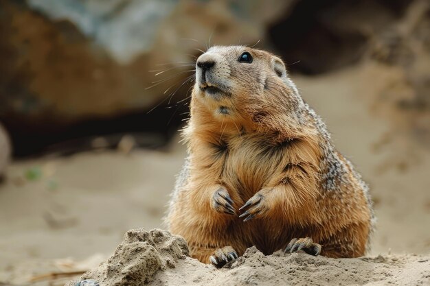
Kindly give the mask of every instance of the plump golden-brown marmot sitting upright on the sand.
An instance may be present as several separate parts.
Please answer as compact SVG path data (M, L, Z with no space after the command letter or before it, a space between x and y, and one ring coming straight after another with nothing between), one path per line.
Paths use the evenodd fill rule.
M251 246L365 253L368 188L277 56L244 46L199 56L183 138L188 158L166 221L192 257L222 267Z

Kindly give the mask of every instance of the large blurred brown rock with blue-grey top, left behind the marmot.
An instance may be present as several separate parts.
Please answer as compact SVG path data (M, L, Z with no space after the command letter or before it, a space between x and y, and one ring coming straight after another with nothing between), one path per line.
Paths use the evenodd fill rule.
M149 70L193 64L187 54L206 49L211 34L211 43L256 43L292 3L1 1L1 117L14 128L53 128L149 110L169 95L166 88L192 75L180 73L146 90L155 80Z

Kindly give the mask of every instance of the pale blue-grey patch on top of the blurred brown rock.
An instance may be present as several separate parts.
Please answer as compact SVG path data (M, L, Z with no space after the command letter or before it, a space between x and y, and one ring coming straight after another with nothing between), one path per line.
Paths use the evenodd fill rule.
M159 25L177 1L29 0L28 4L52 21L70 21L117 62L128 63L151 51Z

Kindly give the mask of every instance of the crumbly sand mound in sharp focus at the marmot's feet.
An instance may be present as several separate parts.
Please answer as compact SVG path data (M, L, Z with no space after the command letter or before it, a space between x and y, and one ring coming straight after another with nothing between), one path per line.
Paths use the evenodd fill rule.
M430 285L430 256L329 259L304 253L265 256L255 247L220 270L188 257L166 230L129 230L107 261L66 286L93 279L122 285ZM83 285L84 283L81 283Z

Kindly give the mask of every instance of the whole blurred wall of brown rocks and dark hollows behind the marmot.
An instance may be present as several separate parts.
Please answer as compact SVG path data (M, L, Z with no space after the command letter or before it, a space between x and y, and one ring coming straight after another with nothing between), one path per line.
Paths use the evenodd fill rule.
M398 78L376 109L400 110L400 125L427 143L429 27L425 0L0 0L0 121L16 155L93 134L166 141L186 117L177 102L200 50L259 42L291 73L392 67Z

